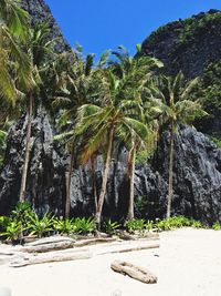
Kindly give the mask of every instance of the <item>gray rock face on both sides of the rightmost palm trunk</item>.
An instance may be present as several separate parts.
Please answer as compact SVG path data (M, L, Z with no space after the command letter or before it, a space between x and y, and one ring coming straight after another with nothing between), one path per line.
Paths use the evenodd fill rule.
M147 198L149 216L166 213L168 134L165 133L150 170L138 170L139 187ZM145 172L145 173L143 173ZM196 130L180 129L175 142L173 214L207 223L221 221L221 150Z

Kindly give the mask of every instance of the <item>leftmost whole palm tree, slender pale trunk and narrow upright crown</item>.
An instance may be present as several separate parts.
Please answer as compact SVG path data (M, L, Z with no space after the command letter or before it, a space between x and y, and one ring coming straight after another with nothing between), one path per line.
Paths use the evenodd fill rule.
M27 89L22 83L20 88L23 93L25 93L27 99L27 139L24 147L24 164L22 169L21 187L20 187L20 202L25 200L25 188L27 188L27 175L30 160L31 150L31 124L33 116L33 100L39 95L39 93L44 92L44 86L46 85L46 80L44 72L48 71L50 67L50 61L54 53L55 40L50 38L50 29L48 24L36 24L34 29L29 31L29 40L27 41L28 57L31 63L31 75L34 81L31 89ZM43 76L43 79L42 79ZM44 81L44 83L43 83Z

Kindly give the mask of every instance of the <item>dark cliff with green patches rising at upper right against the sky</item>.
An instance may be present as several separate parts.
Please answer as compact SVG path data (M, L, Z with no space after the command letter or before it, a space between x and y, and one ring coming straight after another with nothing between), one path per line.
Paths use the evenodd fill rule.
M143 42L141 51L162 61L169 74L181 70L188 79L202 75L210 62L221 59L221 11L162 25Z

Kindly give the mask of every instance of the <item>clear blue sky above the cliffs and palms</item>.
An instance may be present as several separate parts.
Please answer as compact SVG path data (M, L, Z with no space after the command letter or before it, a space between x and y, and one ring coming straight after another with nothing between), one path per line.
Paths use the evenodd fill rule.
M209 9L221 0L45 0L65 39L85 53L125 45L131 53L159 25Z

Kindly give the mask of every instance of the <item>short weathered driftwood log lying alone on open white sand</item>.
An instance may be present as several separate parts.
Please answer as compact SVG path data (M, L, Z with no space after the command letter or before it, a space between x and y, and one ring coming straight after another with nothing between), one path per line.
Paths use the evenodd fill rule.
M156 284L157 276L151 274L144 267L136 266L131 263L115 261L110 265L112 269L116 273L120 273L123 275L128 275L131 278L135 278L145 284Z

